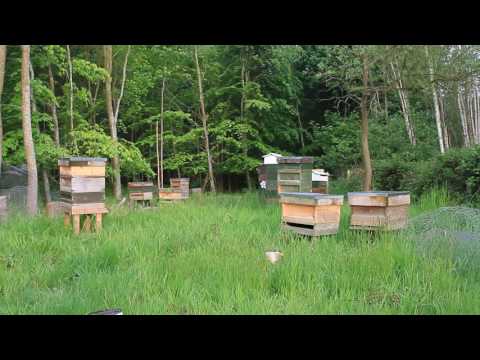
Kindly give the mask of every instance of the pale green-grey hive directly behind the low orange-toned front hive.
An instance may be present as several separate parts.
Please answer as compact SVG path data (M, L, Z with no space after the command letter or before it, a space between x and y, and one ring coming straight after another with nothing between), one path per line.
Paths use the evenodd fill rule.
M293 156L278 159L277 191L312 192L313 157Z

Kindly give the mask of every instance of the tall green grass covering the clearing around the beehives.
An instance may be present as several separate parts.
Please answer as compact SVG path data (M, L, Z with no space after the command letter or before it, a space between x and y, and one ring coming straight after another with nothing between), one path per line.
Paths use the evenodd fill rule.
M446 205L441 190L411 216ZM11 218L0 230L0 314L470 314L476 274L422 257L402 233L348 230L315 241L282 233L278 204L255 193L119 209L100 235L62 219ZM278 248L275 265L264 252Z

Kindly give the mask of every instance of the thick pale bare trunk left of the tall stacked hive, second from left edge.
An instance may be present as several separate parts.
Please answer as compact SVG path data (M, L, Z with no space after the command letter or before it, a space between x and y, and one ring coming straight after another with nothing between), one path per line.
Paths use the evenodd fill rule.
M35 147L32 136L32 112L30 105L30 45L22 45L22 127L25 159L28 170L27 213L37 214L38 177Z

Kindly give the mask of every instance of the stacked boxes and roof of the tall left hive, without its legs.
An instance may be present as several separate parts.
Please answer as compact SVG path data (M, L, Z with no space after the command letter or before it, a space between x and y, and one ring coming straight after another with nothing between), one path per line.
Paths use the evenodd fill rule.
M105 165L107 159L70 157L58 161L60 201L72 215L106 213Z

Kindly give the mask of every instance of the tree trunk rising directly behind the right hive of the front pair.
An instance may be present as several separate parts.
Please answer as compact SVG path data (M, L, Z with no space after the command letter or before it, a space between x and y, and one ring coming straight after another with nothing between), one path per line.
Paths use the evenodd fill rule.
M372 190L372 161L370 159L370 149L368 147L368 110L369 110L369 92L368 92L368 81L369 81L369 64L368 57L363 56L363 94L362 100L360 103L360 110L362 116L362 161L363 161L363 191Z

